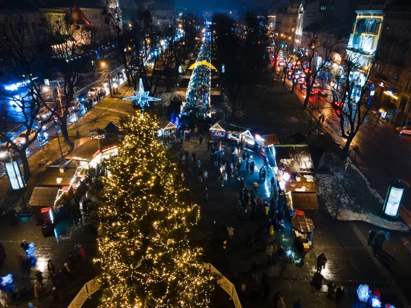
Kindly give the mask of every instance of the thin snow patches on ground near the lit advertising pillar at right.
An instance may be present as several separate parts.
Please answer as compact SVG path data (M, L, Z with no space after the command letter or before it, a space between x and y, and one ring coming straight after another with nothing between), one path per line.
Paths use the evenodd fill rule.
M355 168L356 172L360 172L357 168ZM361 173L361 172L360 172ZM340 172L334 172L332 175L328 174L318 174L317 179L319 180L319 188L321 190L321 195L319 198L323 202L325 209L327 212L334 216L336 214L336 205L338 203L338 196L340 193L341 188L341 181L343 179L343 174ZM346 183L347 185L347 183ZM367 181L367 186L369 187L369 182ZM375 194L375 190L369 187L369 193ZM365 193L365 192L364 192ZM379 201L381 204L378 206L382 207L382 203L384 200L379 196ZM355 210L355 211L354 211ZM356 201L347 194L345 190L343 190L343 194L341 196L340 201L340 209L338 211L338 219L339 220L362 220L364 222L369 222L370 224L374 224L377 227L382 227L390 230L396 231L407 231L408 227L406 224L402 222L390 222L372 214L371 212L367 211L360 205L356 204Z

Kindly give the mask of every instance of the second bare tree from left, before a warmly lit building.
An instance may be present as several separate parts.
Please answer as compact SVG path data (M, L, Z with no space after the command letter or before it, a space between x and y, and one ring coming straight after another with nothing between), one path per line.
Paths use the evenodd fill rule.
M77 61L77 57L84 52L84 45L90 44L90 32L78 25L69 15L53 15L43 18L45 28L45 41L51 54L60 60L55 77L59 84L60 94L58 97L59 105L46 104L46 107L60 121L60 129L64 142L73 147L67 129L69 107L73 101L75 88L84 82L82 66Z

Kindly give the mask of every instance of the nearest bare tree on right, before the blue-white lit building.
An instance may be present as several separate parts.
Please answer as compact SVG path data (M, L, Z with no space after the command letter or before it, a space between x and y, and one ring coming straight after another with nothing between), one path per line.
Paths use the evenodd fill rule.
M347 157L351 142L356 137L369 112L369 104L366 99L369 94L368 80L375 68L375 60L372 60L366 71L364 86L358 84L353 74L361 67L358 55L346 54L340 67L341 73L334 76L332 86L329 88L331 95L326 100L340 118L341 136L347 139L342 155Z

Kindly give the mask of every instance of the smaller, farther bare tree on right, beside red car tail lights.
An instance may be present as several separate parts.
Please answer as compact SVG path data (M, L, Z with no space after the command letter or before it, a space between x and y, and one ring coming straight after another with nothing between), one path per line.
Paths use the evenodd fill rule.
M306 74L306 99L304 99L303 108L306 109L310 100L311 89L316 79L324 73L327 62L332 60L336 51L340 49L340 38L336 36L317 35L312 32L306 36L302 44L303 57L301 57L301 66Z

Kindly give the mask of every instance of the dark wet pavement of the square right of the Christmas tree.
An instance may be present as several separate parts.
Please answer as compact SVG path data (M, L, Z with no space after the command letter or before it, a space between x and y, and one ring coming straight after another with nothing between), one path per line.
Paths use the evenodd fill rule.
M227 159L231 156L229 145L226 144L225 151ZM335 303L330 303L325 295L327 281L335 281L337 285L344 285L347 294L340 307L351 307L357 302L356 289L360 283L368 283L371 287L379 287L385 299L393 298L391 303L399 305L395 290L395 285L386 281L373 261L369 247L358 238L351 226L347 222L332 222L322 213L314 217L316 231L314 235L314 248L303 261L303 264L286 264L285 272L279 277L282 265L273 262L266 266L265 245L266 235L262 235L251 247L246 246L247 233L256 233L260 228L262 216L256 215L250 219L238 220L236 201L238 200L238 187L235 179L229 179L228 187L221 187L217 180L218 171L209 164L210 153L206 151L206 142L199 144L196 140L185 142L184 149L191 154L197 153L197 159L209 172L208 183L200 183L195 177L192 178L192 191L198 196L198 202L202 205L201 224L198 227L198 242L205 247L207 261L210 261L218 268L230 281L236 285L240 294L241 283L247 285L247 292L240 294L243 307L271 307L271 299L278 291L284 295L287 307L298 298L301 299L303 307L335 307ZM255 157L256 155L254 155ZM256 159L257 166L261 166L260 159ZM186 169L185 166L183 166ZM258 181L258 172L254 175L246 174L244 167L241 172L242 177L247 178L247 186L251 187L253 182ZM267 182L270 177L267 177ZM268 183L267 183L268 184ZM201 197L203 188L209 189L208 204ZM264 186L260 184L259 187ZM265 185L267 186L267 185ZM263 200L266 198L266 190L258 190L258 196ZM248 212L248 211L247 211ZM269 239L277 246L290 247L293 249L290 240L290 218L286 218L286 230L276 231L274 239ZM225 226L234 227L234 238L232 240L231 255L227 258L223 251L223 241L227 236ZM325 277L323 287L317 291L310 285L310 281L316 271L316 257L320 253L325 253L328 264L322 274ZM257 269L252 269L252 264L257 264ZM254 278L252 274L254 273ZM260 282L263 274L269 277L270 295L267 300L262 298L262 284ZM256 287L256 292L254 288ZM401 307L398 306L398 307Z

